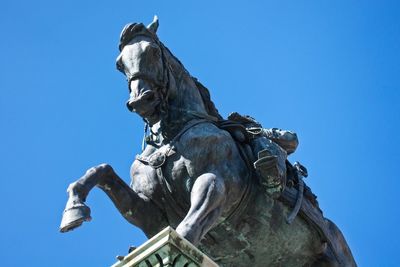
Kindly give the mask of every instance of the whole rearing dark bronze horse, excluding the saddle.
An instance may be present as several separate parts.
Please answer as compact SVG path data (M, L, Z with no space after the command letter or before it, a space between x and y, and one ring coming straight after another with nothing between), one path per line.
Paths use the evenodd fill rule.
M127 77L127 107L149 127L131 184L109 164L87 170L67 189L61 232L91 219L85 201L98 187L146 236L171 226L220 266L356 266L299 175L293 183L290 163L275 176L284 188L274 194L255 178L254 159L240 144L243 123L230 124L240 131L221 126L227 120L208 89L158 39L158 26L157 18L148 26L131 23L120 36L117 68ZM289 222L295 205L298 216Z

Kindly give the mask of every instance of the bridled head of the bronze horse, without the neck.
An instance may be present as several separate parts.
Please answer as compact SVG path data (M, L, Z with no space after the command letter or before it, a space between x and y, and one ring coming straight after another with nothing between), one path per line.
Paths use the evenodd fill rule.
M120 38L117 69L128 80L127 107L150 124L160 120L169 86L169 70L163 47L157 38L158 19L147 27L132 23L124 27Z

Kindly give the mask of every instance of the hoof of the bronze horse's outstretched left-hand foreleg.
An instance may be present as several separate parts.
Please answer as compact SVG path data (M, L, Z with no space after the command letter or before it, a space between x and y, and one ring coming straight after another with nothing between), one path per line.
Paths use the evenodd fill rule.
M84 221L90 221L90 208L83 203L74 205L64 210L61 220L60 232L65 233L82 225Z

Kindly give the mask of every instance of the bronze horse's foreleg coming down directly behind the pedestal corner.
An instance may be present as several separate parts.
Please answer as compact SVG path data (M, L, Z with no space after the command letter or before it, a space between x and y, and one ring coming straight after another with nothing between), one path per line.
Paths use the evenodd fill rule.
M199 176L191 190L189 212L176 231L197 245L221 215L226 200L225 192L223 180L215 174Z

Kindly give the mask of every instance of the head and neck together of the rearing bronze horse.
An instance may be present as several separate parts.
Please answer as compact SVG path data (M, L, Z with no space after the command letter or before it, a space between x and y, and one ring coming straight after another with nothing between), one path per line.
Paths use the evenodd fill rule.
M150 125L161 120L169 128L193 118L221 119L207 88L159 41L157 28L154 17L147 27L131 23L122 30L117 69L128 80L128 109Z

